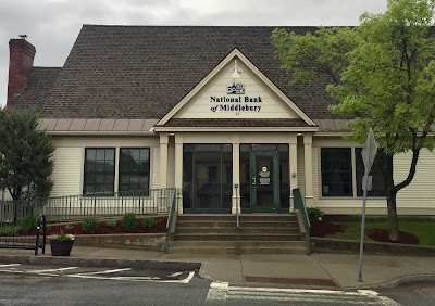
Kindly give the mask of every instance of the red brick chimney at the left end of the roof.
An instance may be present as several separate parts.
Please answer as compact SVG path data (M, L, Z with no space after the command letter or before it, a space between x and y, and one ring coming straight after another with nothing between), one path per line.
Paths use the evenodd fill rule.
M10 103L14 95L21 92L34 66L36 49L25 38L25 35L21 35L21 39L9 40L10 58L7 104Z

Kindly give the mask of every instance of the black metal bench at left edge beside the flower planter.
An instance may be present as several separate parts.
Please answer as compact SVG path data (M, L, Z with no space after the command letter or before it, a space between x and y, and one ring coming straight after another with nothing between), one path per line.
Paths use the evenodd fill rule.
M11 221L0 226L0 248L35 250L35 255L41 248L45 254L46 234L46 216L42 214L37 218L36 227L30 229L22 229L18 224Z

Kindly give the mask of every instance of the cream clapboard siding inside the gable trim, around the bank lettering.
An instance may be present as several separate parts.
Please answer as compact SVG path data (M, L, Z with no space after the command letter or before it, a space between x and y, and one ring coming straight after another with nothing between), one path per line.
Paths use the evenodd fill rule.
M214 76L174 118L298 118L299 116L260 80L246 65L238 61L245 94L226 94L227 85L233 81L234 61L231 61ZM240 99L241 102L213 102L211 97ZM245 102L246 98L261 97L262 102ZM220 111L221 105L261 106L259 111ZM217 106L213 112L211 109Z

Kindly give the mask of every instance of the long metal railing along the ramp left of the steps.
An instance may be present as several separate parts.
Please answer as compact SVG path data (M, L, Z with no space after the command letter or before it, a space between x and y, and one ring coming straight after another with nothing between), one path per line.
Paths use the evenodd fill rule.
M0 201L0 226L16 222L28 215L45 214L47 221L83 220L121 216L125 213L136 215L167 214L174 188L145 191L114 192L34 199L22 201Z

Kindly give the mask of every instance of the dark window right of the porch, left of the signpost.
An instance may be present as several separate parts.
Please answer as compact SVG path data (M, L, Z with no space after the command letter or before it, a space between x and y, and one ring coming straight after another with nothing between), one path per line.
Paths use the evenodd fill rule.
M322 195L352 196L350 148L322 148Z

